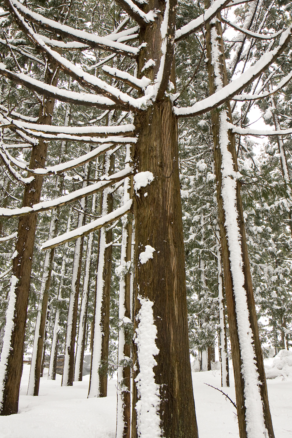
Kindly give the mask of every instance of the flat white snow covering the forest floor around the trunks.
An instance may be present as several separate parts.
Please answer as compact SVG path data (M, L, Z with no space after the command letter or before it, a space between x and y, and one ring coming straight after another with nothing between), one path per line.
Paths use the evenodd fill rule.
M45 368L39 397L32 397L26 396L29 368L24 365L18 415L0 417L0 438L115 438L116 380L109 380L106 398L87 399L89 375L74 382L73 388L62 388L61 376L48 381ZM220 371L192 376L200 438L238 437L234 406L204 385L221 389ZM222 390L235 402L233 381ZM292 437L292 377L268 380L268 394L276 438Z

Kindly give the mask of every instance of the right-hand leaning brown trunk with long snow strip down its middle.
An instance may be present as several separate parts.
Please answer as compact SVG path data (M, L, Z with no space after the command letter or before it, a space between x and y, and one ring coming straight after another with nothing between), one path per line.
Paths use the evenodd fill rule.
M206 6L209 6L207 2ZM206 25L210 94L227 85L221 15ZM274 438L257 326L230 104L211 111L218 214L240 438Z

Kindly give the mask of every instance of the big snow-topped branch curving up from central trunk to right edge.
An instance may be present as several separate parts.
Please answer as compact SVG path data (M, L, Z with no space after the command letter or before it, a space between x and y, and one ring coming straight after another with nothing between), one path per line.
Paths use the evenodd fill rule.
M232 99L233 96L258 78L260 74L262 74L267 67L269 67L278 58L291 40L291 29L292 26L289 26L288 29L282 33L279 45L274 50L264 53L264 55L260 57L260 59L252 67L248 68L243 74L241 74L239 78L234 79L234 81L230 82L228 85L225 85L225 87L206 99L196 102L193 106L186 108L174 107L173 110L176 116L192 117L195 115L204 114L211 109L220 106L222 103L226 102L226 100Z

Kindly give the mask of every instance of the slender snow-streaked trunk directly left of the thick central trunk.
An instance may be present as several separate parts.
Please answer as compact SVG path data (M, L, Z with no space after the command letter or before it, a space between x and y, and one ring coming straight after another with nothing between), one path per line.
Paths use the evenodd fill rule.
M130 161L130 146L127 145L126 156ZM129 165L129 164L128 164ZM123 202L133 196L133 178L126 178L124 182ZM131 325L131 255L132 255L132 228L133 214L129 213L122 218L121 264L119 268L119 348L118 348L118 386L117 386L117 418L116 438L130 438L130 378L131 356L130 333L127 330ZM125 363L125 361L127 363Z

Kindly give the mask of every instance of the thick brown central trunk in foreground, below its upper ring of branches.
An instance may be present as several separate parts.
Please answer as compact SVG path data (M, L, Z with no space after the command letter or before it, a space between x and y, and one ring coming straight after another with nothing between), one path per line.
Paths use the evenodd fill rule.
M141 334L136 339L138 351L134 343L137 370L133 382L132 437L137 437L137 432L143 434L141 419L147 418L149 410L152 410L149 415L153 415L153 408L148 406L149 400L144 395L145 384L137 374L141 366L144 367L139 357L139 349L141 351L145 342L140 312L144 314L144 309L147 311L153 303L151 327L157 329L155 344L159 349L155 356L157 365L153 367L153 398L158 394L157 421L151 425L153 437L160 436L163 430L165 438L194 438L197 422L188 340L177 122L170 100L165 98L153 103L143 116L136 116L134 124L139 134L135 166L139 172L152 172L154 180L138 191L139 196L134 195L134 329ZM155 251L152 259L141 264L139 255L146 245ZM155 351L154 345L152 347Z

